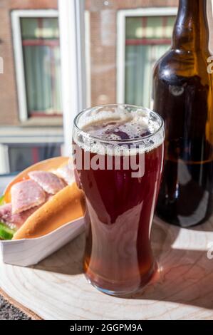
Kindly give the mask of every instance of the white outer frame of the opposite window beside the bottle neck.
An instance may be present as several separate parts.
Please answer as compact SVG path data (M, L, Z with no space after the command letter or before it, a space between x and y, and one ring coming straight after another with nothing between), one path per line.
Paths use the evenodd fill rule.
M129 16L175 16L177 7L125 9L117 15L117 103L125 103L125 19Z

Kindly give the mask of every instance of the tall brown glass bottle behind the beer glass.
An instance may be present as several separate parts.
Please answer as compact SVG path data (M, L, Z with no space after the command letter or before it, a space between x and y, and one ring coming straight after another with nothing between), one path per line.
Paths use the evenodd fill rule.
M155 65L154 110L165 120L157 215L182 227L213 208L213 75L206 0L180 0L172 46Z

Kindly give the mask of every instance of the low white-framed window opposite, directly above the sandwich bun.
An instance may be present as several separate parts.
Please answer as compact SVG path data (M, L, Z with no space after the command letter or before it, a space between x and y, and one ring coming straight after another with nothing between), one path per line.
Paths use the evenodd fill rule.
M61 128L1 128L0 175L19 172L40 160L58 155L63 155Z

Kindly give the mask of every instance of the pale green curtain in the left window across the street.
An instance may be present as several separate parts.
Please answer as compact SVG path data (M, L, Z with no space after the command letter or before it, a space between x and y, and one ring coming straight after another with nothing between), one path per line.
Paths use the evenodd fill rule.
M59 47L24 46L28 112L61 112Z

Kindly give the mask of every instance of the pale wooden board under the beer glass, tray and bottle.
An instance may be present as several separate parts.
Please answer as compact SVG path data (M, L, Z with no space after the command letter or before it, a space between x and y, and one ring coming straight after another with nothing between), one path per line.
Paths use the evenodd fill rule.
M86 282L84 234L34 267L1 262L0 287L43 319L213 319L211 242L213 218L189 230L155 219L152 245L160 272L128 299L102 294Z

